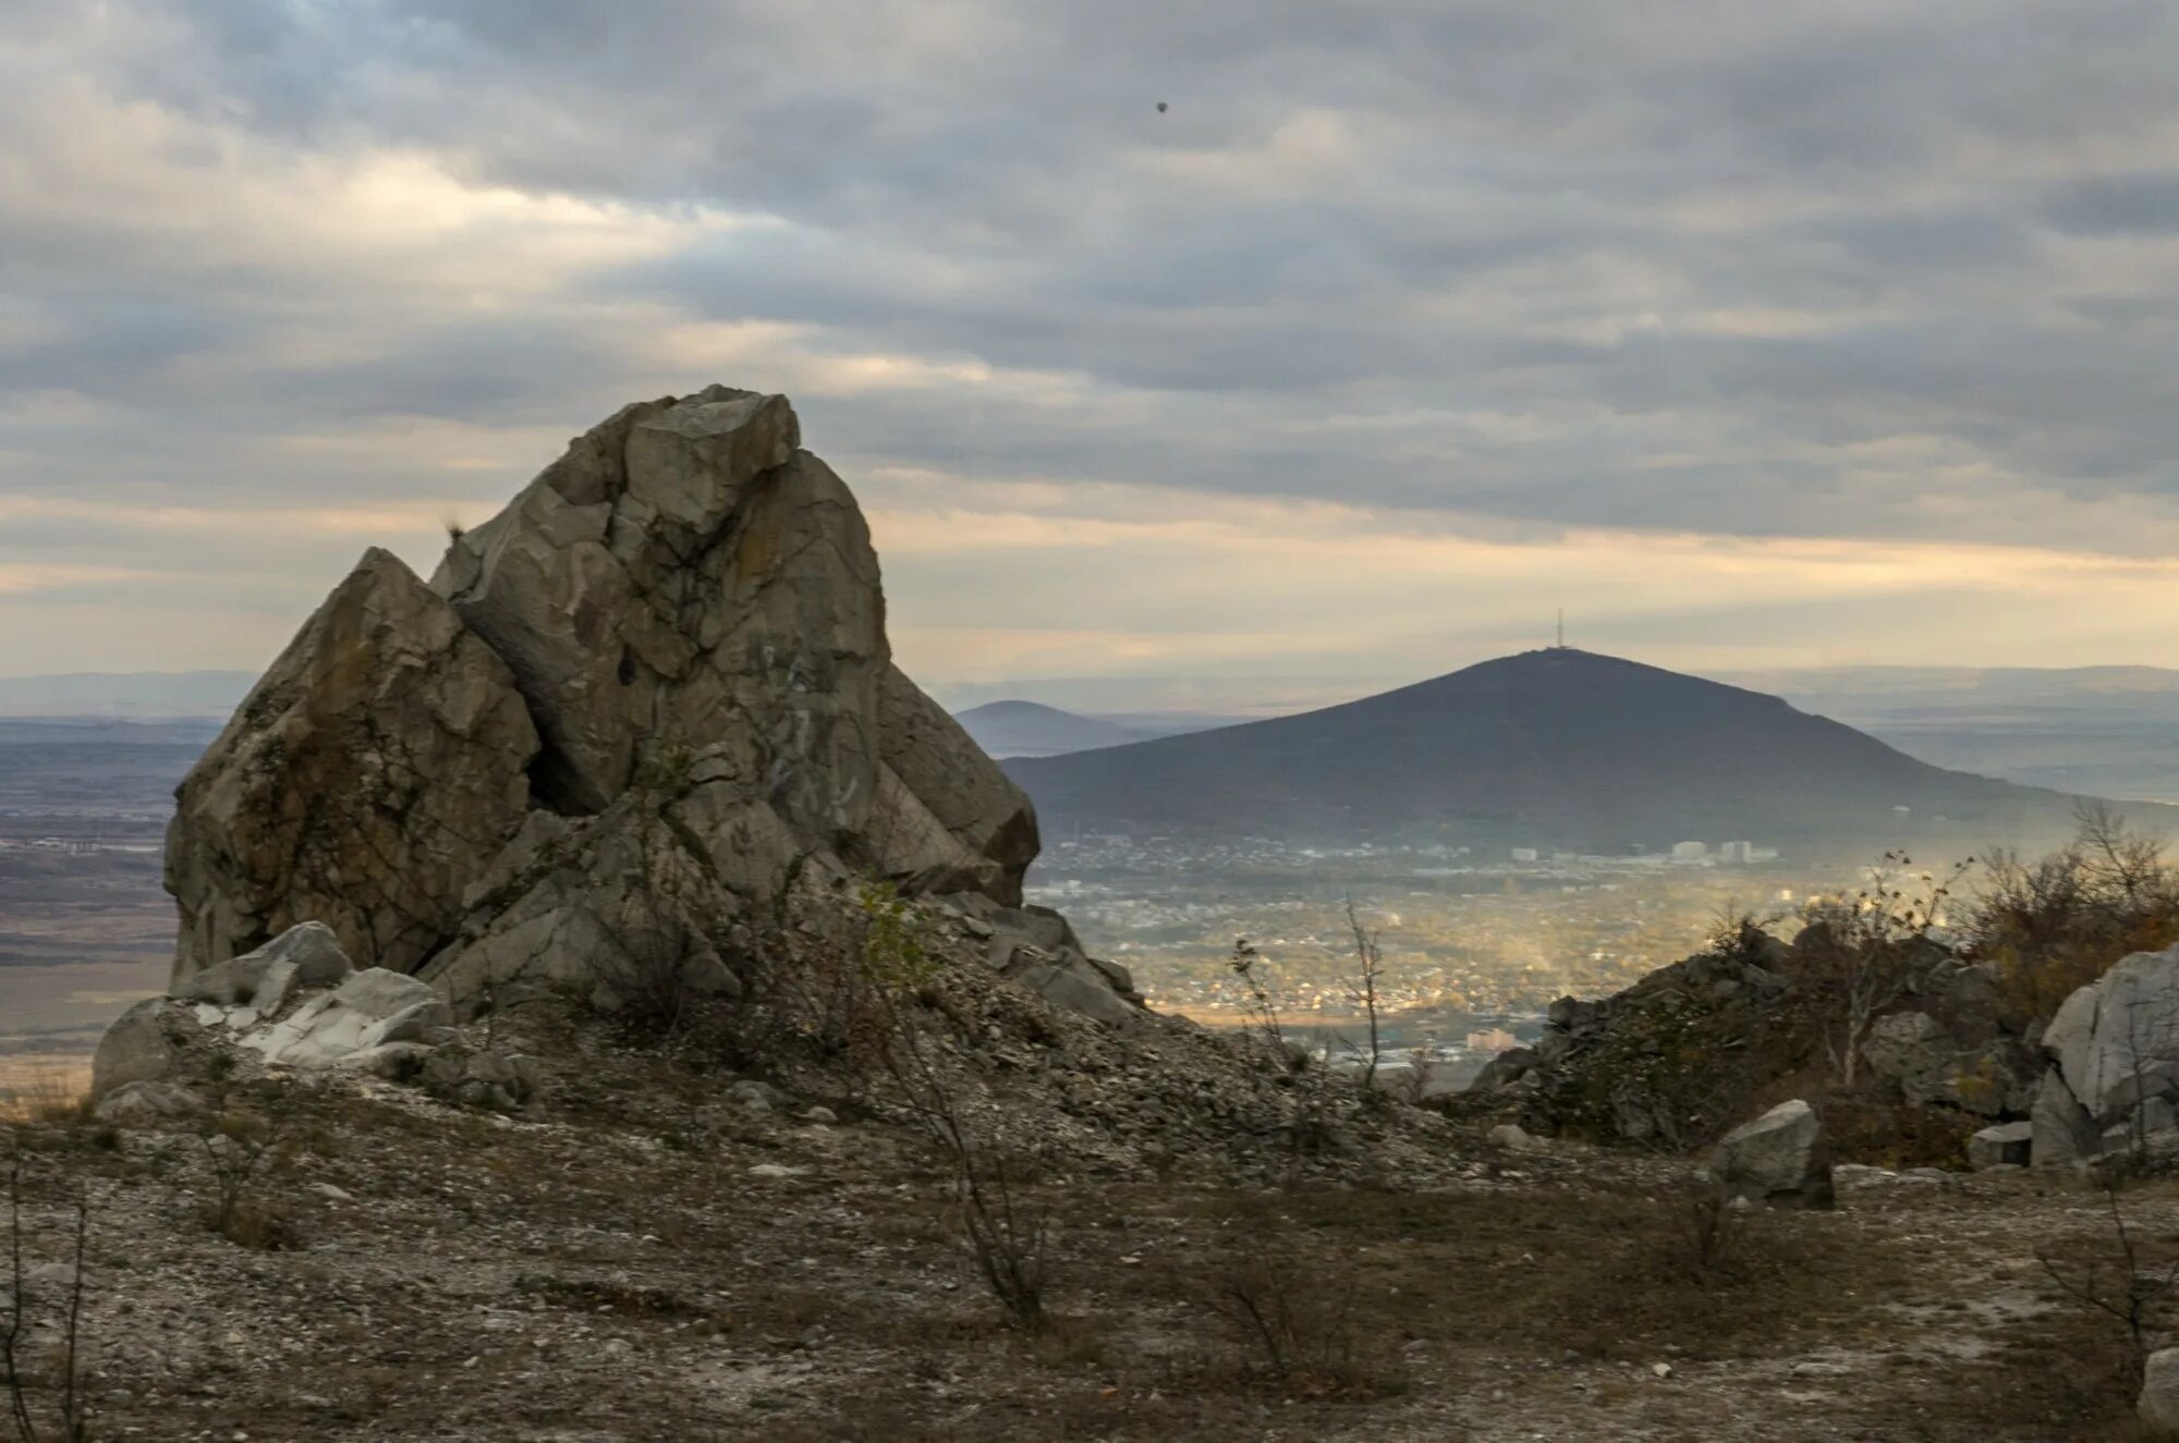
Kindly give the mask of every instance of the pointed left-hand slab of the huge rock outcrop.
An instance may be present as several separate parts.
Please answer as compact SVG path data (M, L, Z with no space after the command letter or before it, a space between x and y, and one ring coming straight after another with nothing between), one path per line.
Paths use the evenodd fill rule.
M506 663L399 558L366 551L176 793L174 979L303 920L414 970L521 824L536 748Z

